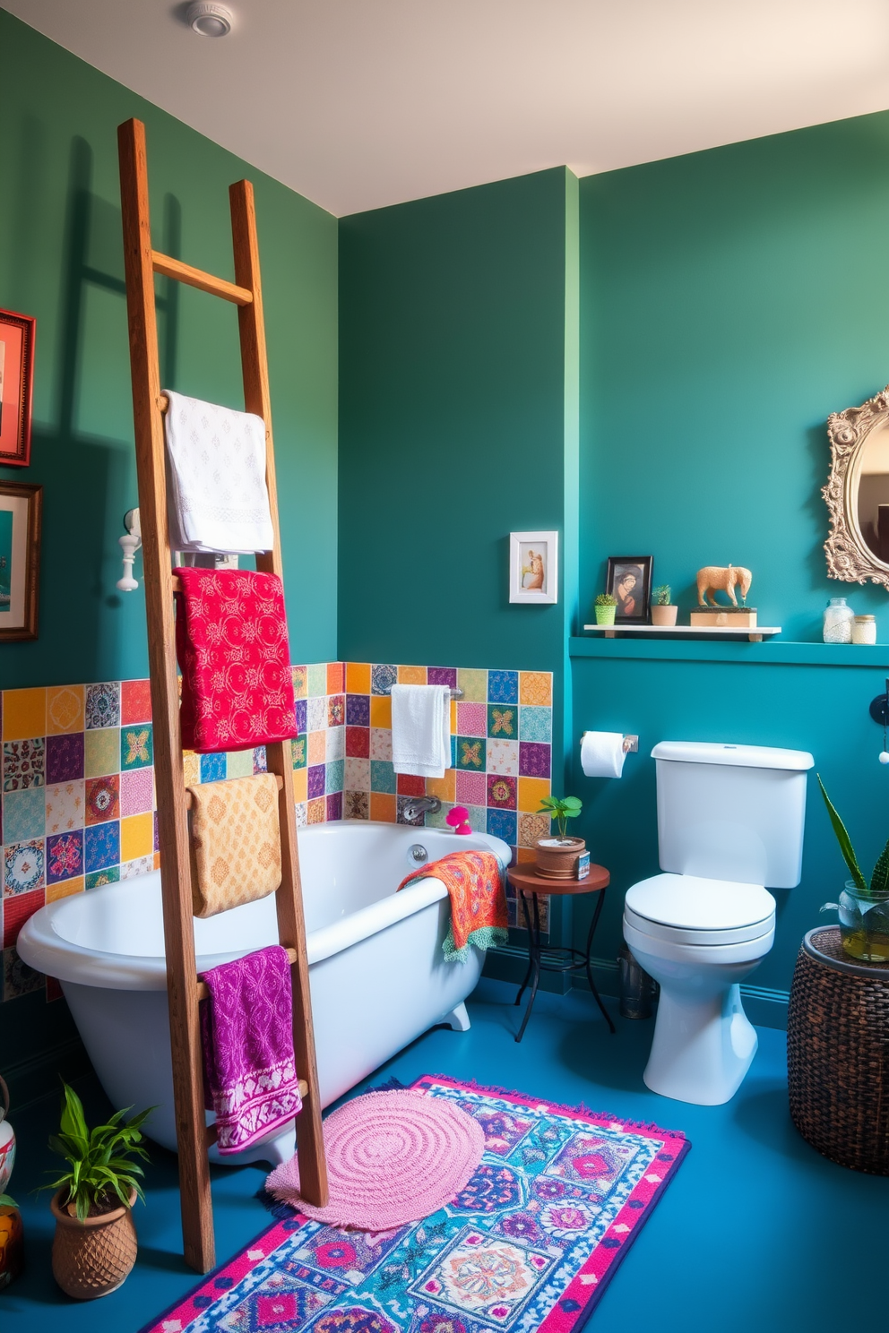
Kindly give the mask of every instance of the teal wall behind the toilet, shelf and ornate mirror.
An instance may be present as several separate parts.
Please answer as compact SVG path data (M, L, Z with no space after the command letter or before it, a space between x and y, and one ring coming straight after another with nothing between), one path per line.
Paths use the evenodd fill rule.
M826 577L820 496L828 413L889 380L888 153L881 113L580 183L585 620L608 555L652 552L681 607L698 567L732 561L753 571L749 601L784 639L820 639L826 599L844 593L889 637L884 589ZM660 738L810 750L873 864L889 773L868 704L885 672L822 653L825 665L574 660L577 729L640 734L620 782L576 768L584 833L618 890L598 954L620 946L622 890L657 872ZM750 978L765 988L789 986L802 933L845 878L813 786L802 884L776 894L776 945Z

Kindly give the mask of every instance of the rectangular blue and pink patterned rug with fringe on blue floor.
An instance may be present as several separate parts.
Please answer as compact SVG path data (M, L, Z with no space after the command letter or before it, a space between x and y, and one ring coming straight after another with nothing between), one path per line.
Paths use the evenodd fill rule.
M570 1333L689 1142L445 1077L413 1084L480 1122L466 1188L395 1232L287 1216L143 1333Z

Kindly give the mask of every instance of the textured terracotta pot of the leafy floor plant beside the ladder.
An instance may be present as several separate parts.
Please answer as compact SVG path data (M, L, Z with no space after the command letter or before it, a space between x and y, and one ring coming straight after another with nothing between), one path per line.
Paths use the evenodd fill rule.
M87 1217L79 1222L61 1206L65 1186L57 1190L52 1202L56 1236L52 1242L52 1276L68 1296L91 1301L108 1296L123 1285L136 1262L136 1226L132 1206L136 1190L129 1196L129 1206Z

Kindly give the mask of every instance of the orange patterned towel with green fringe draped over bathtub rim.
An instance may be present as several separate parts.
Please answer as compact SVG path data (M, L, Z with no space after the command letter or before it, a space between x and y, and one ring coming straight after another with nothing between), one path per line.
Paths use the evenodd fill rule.
M450 929L441 946L448 962L462 962L470 944L477 949L506 944L506 893L493 852L452 852L412 870L399 889L413 880L428 878L441 880L450 897Z

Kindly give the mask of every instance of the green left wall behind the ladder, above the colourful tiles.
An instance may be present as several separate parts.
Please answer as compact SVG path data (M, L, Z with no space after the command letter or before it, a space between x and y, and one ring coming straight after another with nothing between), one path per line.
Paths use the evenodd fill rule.
M37 316L33 461L0 475L44 485L40 639L0 648L5 689L147 674L143 592L115 589L136 504L116 139L129 116L147 125L159 248L232 276L228 185L256 187L292 651L336 656L336 219L0 11L0 307ZM233 309L157 289L164 384L240 408Z

